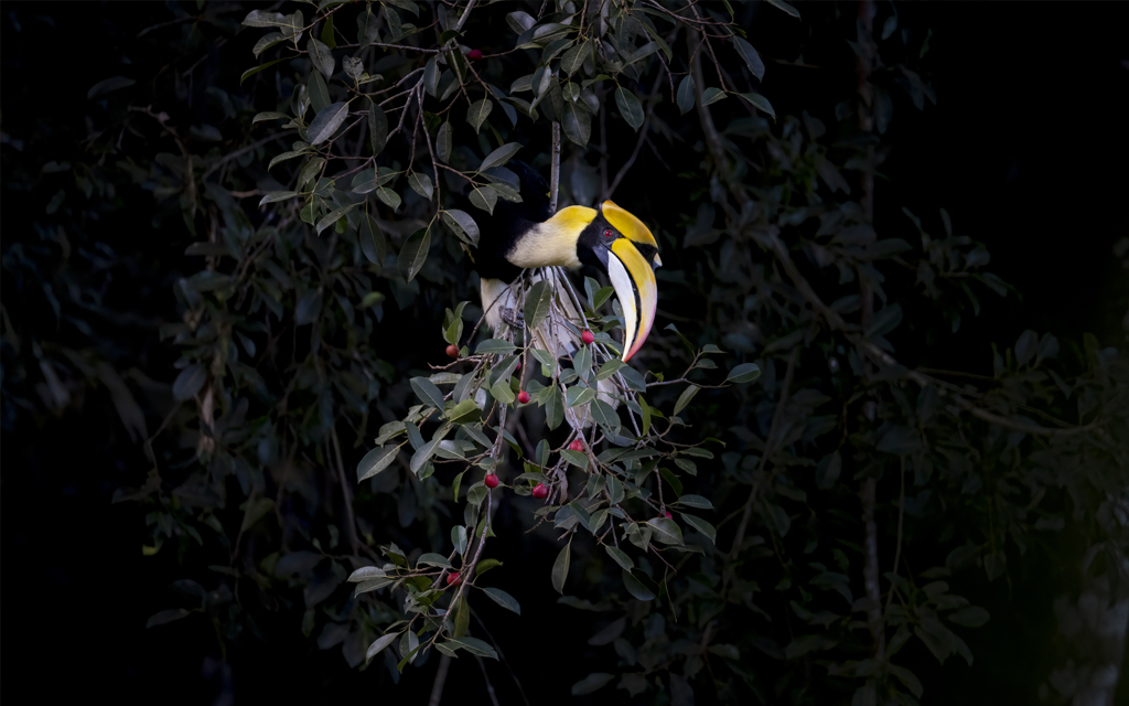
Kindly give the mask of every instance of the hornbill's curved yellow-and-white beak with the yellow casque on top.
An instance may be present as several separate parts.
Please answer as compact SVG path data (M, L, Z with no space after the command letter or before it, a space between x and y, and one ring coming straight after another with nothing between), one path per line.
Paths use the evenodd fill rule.
M655 269L663 264L658 258L655 236L630 212L611 201L601 204L601 212L620 234L612 241L607 258L607 277L627 320L623 332L623 361L642 347L655 323L658 308L658 285Z

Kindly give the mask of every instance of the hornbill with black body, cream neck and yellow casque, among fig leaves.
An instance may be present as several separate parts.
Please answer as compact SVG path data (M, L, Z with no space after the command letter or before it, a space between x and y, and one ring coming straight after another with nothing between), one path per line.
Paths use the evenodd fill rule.
M520 181L522 201L499 200L493 215L480 219L479 245L471 253L482 280L487 324L500 331L507 314L520 311L509 287L522 270L590 264L607 276L620 300L622 359L628 360L650 332L658 306L655 269L662 260L655 236L611 201L598 208L569 206L553 213L545 180L517 160L507 167Z

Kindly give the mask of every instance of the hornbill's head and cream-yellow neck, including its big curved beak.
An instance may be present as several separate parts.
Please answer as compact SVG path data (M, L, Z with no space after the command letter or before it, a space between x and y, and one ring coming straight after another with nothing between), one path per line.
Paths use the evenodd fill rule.
M592 264L607 274L624 317L623 360L639 350L658 305L655 268L662 264L655 236L638 218L604 201L598 209L570 206L542 223L525 221L502 255L520 269ZM488 284L483 280L483 306Z

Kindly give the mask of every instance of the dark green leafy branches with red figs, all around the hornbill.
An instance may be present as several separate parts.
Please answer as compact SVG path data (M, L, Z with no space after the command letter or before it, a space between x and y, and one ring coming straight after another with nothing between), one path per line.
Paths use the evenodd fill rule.
M592 3L580 23L560 2L500 3L465 24L466 5L406 0L205 6L184 50L254 33L240 89L193 94L183 68L100 80L81 150L6 174L50 198L3 245L5 425L100 395L117 443L143 450L114 500L139 508L148 556L186 569L150 627L202 613L227 650L288 621L375 690L430 670L431 647L522 650L490 637L487 604L574 654L575 633L550 640L539 620L559 600L598 618L572 695L917 703L979 659L969 636L992 617L966 596L1062 556L1124 591L1123 352L1027 331L990 375L922 364L922 332L1008 295L942 204L875 226L892 106L935 101L927 40L887 32L885 9L872 36L803 8L795 21L850 41L863 79L834 123L778 116L752 10L733 5L684 21L675 3L603 19ZM701 27L726 38L699 47ZM611 355L619 305L592 279L584 298L578 280L522 284L528 324L568 302L597 334L562 371L478 328L474 219L519 198L509 159L549 171L553 123L559 204L633 199L663 249L660 308L686 320L628 366ZM629 162L609 160L614 140L636 145ZM648 140L685 156L631 171ZM627 188L659 178L677 188ZM154 212L183 271L91 235L121 209ZM113 268L132 270L129 299L156 302L108 303ZM139 324L159 338L114 332ZM592 454L567 450L584 406ZM528 499L540 482L549 505ZM499 504L511 531L557 542L548 575L493 552ZM519 604L530 582L539 602Z

